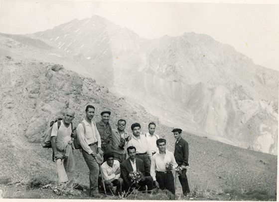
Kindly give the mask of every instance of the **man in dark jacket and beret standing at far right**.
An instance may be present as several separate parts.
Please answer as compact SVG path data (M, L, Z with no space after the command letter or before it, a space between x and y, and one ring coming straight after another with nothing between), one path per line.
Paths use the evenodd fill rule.
M176 139L174 144L174 158L178 164L178 169L181 169L181 174L178 175L179 182L182 186L183 194L186 196L190 193L188 180L186 176L186 171L189 168L188 157L189 157L189 147L188 142L181 137L181 129L173 129L171 131Z

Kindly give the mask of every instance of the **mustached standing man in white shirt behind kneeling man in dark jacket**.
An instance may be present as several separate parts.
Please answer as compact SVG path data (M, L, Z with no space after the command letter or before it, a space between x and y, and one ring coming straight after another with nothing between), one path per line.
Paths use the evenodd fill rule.
M152 157L152 152L148 146L148 141L145 135L140 135L140 124L134 123L131 126L133 135L130 141L128 141L127 146L135 146L137 148L136 156L137 158L143 160L145 175L150 176L150 161Z

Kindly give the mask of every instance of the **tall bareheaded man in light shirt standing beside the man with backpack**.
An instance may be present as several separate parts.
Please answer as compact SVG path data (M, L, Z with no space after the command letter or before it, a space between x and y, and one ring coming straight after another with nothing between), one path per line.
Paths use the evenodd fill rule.
M81 152L89 168L90 190L89 196L100 198L98 192L98 177L100 168L95 159L96 154L103 155L101 149L101 137L97 130L96 123L92 120L95 115L95 107L87 105L85 110L86 117L77 127L77 138L81 145ZM85 131L84 127L85 126Z

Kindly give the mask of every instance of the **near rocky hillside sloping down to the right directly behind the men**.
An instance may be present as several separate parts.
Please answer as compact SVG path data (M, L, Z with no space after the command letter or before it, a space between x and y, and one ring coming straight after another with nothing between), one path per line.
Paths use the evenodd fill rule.
M129 132L131 124L139 122L144 133L148 123L154 121L156 133L167 139L167 149L173 151L172 128L160 124L140 105L130 105L125 98L112 94L92 78L65 70L58 64L24 57L18 60L3 54L0 54L0 72L0 177L23 183L32 177L56 180L51 149L42 148L39 137L49 122L61 116L68 107L75 110L74 125L77 125L84 117L87 104L96 107L95 121L100 120L101 111L111 110L113 128L118 119L124 118ZM191 189L276 193L277 156L185 132L183 138L189 142ZM86 163L78 150L74 156L77 182L88 186ZM177 189L179 192L179 183Z

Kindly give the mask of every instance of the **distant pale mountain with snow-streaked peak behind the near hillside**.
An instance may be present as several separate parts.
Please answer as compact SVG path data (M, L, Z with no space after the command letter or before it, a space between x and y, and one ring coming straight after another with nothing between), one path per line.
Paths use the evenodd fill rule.
M195 33L145 40L99 16L30 37L68 53L97 82L164 124L277 154L278 71L229 45Z

